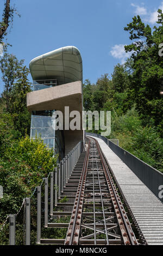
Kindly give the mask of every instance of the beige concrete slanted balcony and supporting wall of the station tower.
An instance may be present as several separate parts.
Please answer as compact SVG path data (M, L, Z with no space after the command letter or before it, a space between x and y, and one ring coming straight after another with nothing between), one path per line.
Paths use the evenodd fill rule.
M27 93L27 108L29 111L55 109L62 111L62 113L64 114L65 106L69 106L70 112L72 110L77 110L80 112L80 130L64 130L65 154L70 152L79 141L83 140L82 91L82 81L76 81L65 85L59 85Z

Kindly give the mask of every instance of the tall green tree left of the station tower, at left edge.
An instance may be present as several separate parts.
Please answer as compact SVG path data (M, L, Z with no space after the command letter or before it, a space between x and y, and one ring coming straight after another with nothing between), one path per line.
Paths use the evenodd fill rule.
M21 135L29 134L30 114L27 110L26 96L30 92L28 81L29 69L23 66L23 59L18 61L16 56L5 53L0 59L0 69L4 91L1 94L1 102L4 105L4 112L12 115L14 127L21 132Z

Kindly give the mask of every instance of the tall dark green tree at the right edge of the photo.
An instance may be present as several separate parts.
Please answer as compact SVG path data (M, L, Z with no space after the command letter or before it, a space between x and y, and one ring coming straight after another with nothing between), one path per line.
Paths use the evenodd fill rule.
M130 97L136 102L142 119L152 123L162 132L163 102L159 93L163 78L163 59L158 55L159 44L163 41L163 14L158 10L158 27L153 32L149 25L141 21L140 16L133 17L125 31L129 31L134 40L125 46L126 52L133 51L133 74L130 80Z

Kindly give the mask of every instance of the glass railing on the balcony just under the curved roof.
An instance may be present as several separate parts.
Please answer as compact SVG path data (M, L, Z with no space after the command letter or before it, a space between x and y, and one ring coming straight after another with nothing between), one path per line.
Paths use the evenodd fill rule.
M57 79L33 81L33 91L38 91L38 90L46 89L53 86L57 86Z

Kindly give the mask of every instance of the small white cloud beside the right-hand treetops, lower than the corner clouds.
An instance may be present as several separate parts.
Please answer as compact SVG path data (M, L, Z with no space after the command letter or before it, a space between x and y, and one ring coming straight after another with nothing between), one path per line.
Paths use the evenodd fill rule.
M120 59L122 64L131 56L131 52L126 52L124 50L124 44L116 44L112 46L110 53L112 57Z

